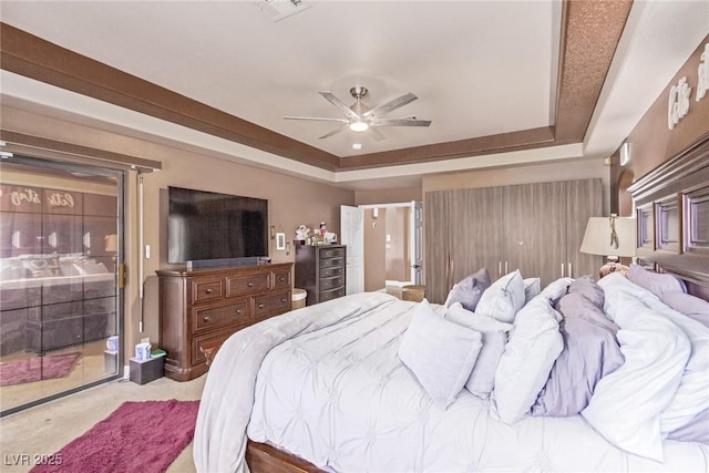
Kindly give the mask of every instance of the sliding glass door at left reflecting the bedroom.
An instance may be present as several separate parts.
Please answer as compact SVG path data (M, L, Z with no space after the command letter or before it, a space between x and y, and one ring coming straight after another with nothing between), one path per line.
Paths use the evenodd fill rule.
M119 377L123 173L0 162L0 414Z

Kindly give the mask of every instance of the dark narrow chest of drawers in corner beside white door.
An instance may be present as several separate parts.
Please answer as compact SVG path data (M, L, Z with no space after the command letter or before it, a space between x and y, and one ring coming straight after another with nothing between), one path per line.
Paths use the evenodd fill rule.
M308 291L306 305L345 296L345 245L296 245L296 286Z

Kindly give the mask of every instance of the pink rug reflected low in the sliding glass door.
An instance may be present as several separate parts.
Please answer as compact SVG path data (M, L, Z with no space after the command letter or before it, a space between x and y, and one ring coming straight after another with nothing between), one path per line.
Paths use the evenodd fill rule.
M81 353L32 357L0 363L0 385L22 384L43 379L64 378Z

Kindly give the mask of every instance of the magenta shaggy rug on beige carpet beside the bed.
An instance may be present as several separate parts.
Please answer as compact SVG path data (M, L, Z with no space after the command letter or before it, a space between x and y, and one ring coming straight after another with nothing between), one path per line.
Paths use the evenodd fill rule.
M199 401L124 402L32 473L157 473L192 441ZM48 461L48 463L50 463Z

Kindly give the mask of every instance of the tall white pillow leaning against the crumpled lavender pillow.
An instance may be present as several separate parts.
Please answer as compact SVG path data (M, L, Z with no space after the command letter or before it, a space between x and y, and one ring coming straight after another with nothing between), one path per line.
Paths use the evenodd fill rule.
M542 292L520 310L500 359L492 409L506 424L517 422L530 411L564 349L558 331L562 316L552 307L552 300Z

